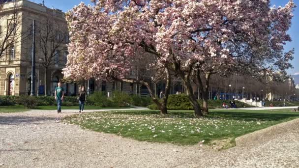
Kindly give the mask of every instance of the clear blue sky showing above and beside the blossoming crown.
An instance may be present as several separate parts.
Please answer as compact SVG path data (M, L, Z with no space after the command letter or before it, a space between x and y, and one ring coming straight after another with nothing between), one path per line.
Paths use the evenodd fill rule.
M30 0L35 3L41 3L42 0ZM58 8L61 9L63 12L66 12L70 10L74 5L79 4L81 1L85 3L90 3L90 0L45 0L45 5L52 8ZM294 12L294 18L292 22L292 27L289 30L289 33L292 37L292 42L288 43L285 46L285 50L291 50L292 48L295 48L295 56L294 60L292 61L292 64L294 66L294 69L288 70L289 74L299 74L299 33L296 33L296 31L299 30L299 0L294 0L295 3L298 5L298 7L295 9ZM288 3L288 0L271 0L272 5L276 6L284 6L286 3Z

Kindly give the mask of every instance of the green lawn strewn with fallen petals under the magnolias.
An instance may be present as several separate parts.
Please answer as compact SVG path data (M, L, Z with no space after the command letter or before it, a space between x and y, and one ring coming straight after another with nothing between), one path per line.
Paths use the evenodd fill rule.
M204 118L193 111L113 111L75 114L65 117L66 123L82 128L117 134L141 141L170 142L179 145L204 143L228 148L235 138L299 117L291 110L211 110Z

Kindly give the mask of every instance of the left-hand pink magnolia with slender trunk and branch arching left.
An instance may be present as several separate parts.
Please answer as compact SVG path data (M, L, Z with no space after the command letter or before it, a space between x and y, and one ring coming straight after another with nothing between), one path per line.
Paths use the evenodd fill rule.
M68 45L68 61L63 70L65 78L112 79L145 85L153 102L161 113L166 114L171 83L168 66L158 63L156 57L145 52L142 47L125 43L125 37L121 37L122 32L115 28L118 19L117 15L83 3L67 14L71 42ZM147 70L151 73L144 73ZM166 81L165 95L161 102L149 84L150 81L159 80Z

